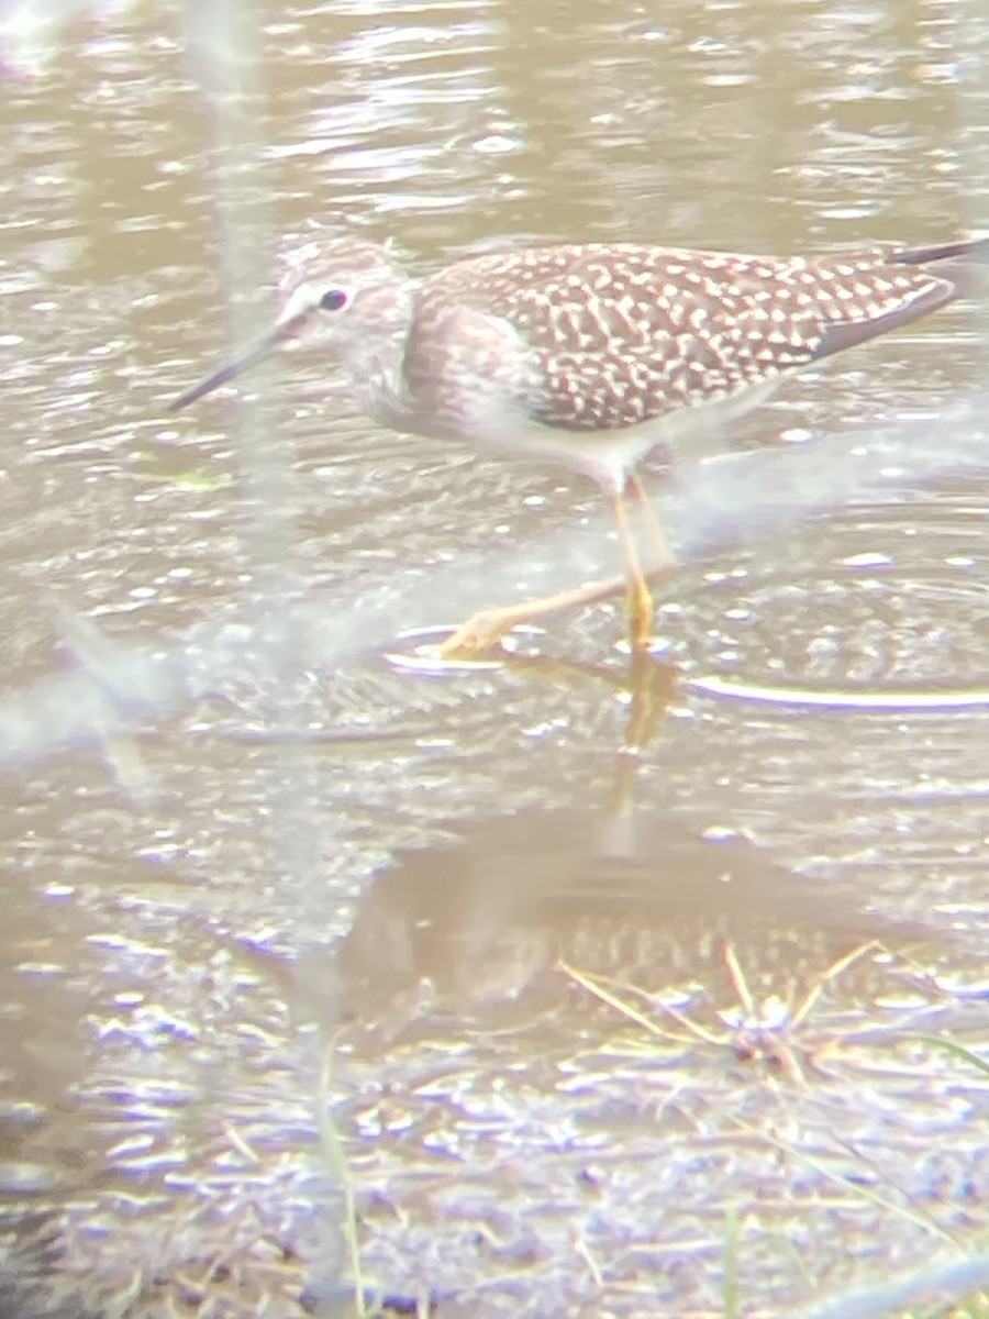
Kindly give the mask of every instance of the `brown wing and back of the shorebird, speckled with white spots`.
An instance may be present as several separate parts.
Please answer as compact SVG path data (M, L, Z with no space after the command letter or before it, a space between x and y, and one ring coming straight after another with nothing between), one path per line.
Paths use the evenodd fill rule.
M522 353L479 335L459 344L460 369L476 348L475 379L524 394L533 418L611 430L741 393L956 295L947 262L942 277L889 248L820 261L630 244L496 253L425 281L405 371L413 392L435 389L430 328L469 309L510 326Z

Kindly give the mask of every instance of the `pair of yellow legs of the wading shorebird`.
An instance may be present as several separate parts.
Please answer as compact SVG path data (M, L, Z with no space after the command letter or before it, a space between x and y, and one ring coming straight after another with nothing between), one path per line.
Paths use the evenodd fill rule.
M636 501L637 508L645 512L649 522L653 546L647 571L642 568L625 501L621 495L613 495L612 506L618 521L618 537L625 558L625 572L621 576L605 578L603 582L592 582L538 600L526 600L522 604L481 609L458 628L452 636L447 637L440 648L443 658L476 660L508 632L524 623L531 623L534 619L541 619L545 613L554 613L558 609L576 609L587 604L597 604L599 600L607 600L622 590L629 592L632 646L634 650L645 650L653 629L653 595L646 578L671 572L676 566L676 558L636 477L629 477L626 491Z

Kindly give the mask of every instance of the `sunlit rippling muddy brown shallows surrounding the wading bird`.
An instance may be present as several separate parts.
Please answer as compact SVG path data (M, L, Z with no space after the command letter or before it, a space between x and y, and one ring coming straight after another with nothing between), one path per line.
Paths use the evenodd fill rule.
M345 1312L356 1277L654 1316L737 1277L793 1314L964 1249L977 311L803 377L723 463L657 456L686 563L633 669L617 603L491 667L405 636L612 572L578 477L382 433L319 361L164 406L314 220L419 269L977 226L985 18L367 0L4 40L9 1312Z

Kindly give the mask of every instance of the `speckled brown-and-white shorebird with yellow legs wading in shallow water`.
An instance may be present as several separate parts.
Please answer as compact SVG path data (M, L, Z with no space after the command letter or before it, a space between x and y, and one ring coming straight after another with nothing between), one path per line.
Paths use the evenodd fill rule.
M355 402L397 431L560 463L591 476L617 517L624 579L484 609L442 646L473 657L521 623L628 586L632 646L651 638L647 578L675 567L649 516L640 554L626 500L657 445L676 447L762 402L782 377L910 324L974 288L989 239L825 257L563 244L472 257L425 280L384 245L326 243L289 272L274 326L185 408L276 350L340 365Z

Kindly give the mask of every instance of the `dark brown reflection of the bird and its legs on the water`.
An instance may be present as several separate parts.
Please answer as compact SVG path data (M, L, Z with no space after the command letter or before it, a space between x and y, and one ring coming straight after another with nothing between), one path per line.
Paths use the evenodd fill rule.
M837 968L851 991L882 973L856 950L930 938L854 907L740 834L637 807L638 752L662 724L671 670L647 657L622 679L542 660L530 669L628 686L613 782L596 803L454 824L452 842L398 853L339 952L344 1020L375 1028L372 1037L468 1017L505 1029L533 1013L600 1009L583 975L649 991L699 1026L724 1029L719 1005L738 1004L742 1017L767 996L798 1005ZM303 997L311 969L299 968Z

